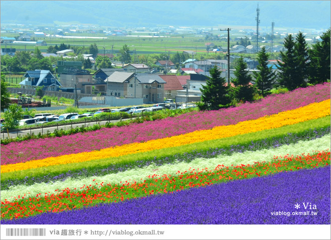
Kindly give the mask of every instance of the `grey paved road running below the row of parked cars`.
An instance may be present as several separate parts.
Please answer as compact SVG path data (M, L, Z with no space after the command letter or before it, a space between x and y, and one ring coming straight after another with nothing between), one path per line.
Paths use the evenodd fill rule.
M126 119L123 119L123 120L126 120ZM110 122L117 122L119 120L111 120ZM80 123L73 123L73 124L67 124L67 125L58 125L58 126L47 126L47 127L40 127L40 128L29 128L29 129L17 129L17 130L12 130L11 132L9 132L9 136L10 137L17 137L18 135L27 135L27 134L31 134L31 133L34 133L34 134L38 134L39 132L41 133L46 133L47 131L50 131L50 132L54 132L55 129L58 129L60 130L61 128L62 129L70 129L71 127L72 128L75 128L76 126L78 127L81 127L81 126L92 126L92 125L95 125L95 124L100 124L100 125L104 125L106 122L108 121L91 121L91 122L80 122ZM8 137L8 133L7 133L7 130L2 130L1 131L1 134L0 134L0 138L3 139L3 138L7 138Z

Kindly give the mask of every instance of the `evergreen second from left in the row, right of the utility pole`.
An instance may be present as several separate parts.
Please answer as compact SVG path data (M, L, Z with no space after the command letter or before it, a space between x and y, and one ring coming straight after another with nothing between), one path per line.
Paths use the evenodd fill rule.
M252 81L251 75L249 75L247 69L247 63L243 57L238 60L238 65L234 71L235 78L232 78L232 83L235 85L233 89L234 97L240 101L252 101L255 89L249 83Z

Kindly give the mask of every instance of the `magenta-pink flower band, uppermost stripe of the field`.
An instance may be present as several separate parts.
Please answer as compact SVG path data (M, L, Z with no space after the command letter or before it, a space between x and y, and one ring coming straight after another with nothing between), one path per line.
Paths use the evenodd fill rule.
M219 125L257 119L280 111L295 109L312 102L330 98L330 83L298 88L284 94L270 95L256 102L214 111L194 111L178 117L136 123L129 126L102 128L93 132L77 133L52 140L31 139L1 146L1 165L25 162L105 147L143 142Z

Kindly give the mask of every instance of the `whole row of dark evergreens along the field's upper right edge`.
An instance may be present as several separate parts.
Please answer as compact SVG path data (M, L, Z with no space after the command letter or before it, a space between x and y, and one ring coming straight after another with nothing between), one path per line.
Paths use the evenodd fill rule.
M243 57L239 58L235 67L235 77L231 79L234 86L226 85L226 79L216 68L210 70L211 77L201 88L202 103L200 109L219 109L228 107L238 101L252 101L254 94L264 97L270 94L274 86L282 86L293 90L309 84L317 84L330 80L330 29L321 35L321 41L308 49L302 32L294 40L289 34L284 40L286 52L281 52L282 61L278 61L278 73L268 66L265 48L257 54L259 71L253 72L255 85L251 84L247 64Z

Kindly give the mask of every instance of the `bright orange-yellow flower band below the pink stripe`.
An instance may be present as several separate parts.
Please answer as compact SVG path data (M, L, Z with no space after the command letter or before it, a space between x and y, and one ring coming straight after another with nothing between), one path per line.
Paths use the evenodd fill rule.
M23 163L3 165L1 167L1 172L4 173L57 164L83 162L94 159L117 157L137 152L146 152L154 149L181 146L195 142L202 142L206 140L277 128L284 125L290 125L310 119L320 118L327 115L330 115L330 99L322 102L311 103L297 109L279 112L278 114L264 116L255 120L242 121L234 125L216 126L208 130L197 130L178 136L149 140L141 143L130 143L121 146L114 146L98 151L81 152L76 154L32 160Z

